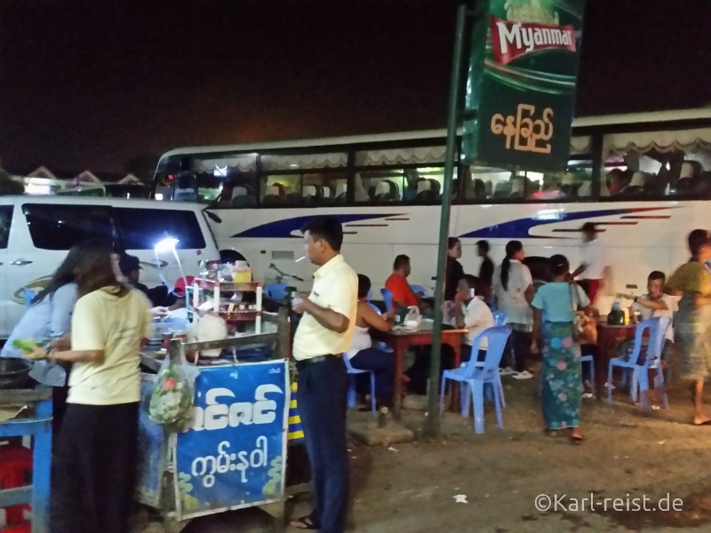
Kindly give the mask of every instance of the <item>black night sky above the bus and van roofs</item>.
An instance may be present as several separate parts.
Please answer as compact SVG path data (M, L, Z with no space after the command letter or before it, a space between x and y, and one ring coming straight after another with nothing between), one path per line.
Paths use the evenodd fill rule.
M588 0L578 115L711 103L711 1ZM0 0L0 157L443 128L452 0Z

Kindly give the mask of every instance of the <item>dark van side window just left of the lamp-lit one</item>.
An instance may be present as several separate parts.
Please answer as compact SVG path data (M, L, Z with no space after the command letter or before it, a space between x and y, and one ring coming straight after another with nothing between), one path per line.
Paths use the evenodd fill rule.
M32 243L42 250L69 250L76 243L95 238L116 242L110 207L25 203L22 211Z

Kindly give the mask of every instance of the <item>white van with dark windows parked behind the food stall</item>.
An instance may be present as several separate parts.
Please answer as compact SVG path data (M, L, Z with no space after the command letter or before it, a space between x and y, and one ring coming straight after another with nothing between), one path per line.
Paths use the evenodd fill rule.
M91 238L110 239L138 256L140 281L155 287L180 278L172 252L154 251L166 236L179 240L180 263L197 275L199 263L220 259L203 207L154 200L60 196L0 196L0 338L25 313L23 288L39 290L69 248Z

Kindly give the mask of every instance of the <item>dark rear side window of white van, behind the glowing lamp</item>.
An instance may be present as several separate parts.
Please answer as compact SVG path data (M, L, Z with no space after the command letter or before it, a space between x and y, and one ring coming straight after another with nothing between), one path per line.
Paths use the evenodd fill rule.
M114 217L125 250L153 250L166 235L179 240L179 250L205 247L195 211L115 207Z

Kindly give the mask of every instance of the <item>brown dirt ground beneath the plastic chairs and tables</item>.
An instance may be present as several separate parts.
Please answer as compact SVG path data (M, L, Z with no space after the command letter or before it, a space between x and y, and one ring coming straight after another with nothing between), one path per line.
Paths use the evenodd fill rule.
M688 393L674 394L669 410L644 418L618 392L612 405L583 401L582 446L542 432L537 379L504 378L504 429L486 410L485 434L475 435L471 418L448 413L442 436L433 441L368 448L353 443L352 507L348 531L359 533L585 532L711 530L711 426L689 425ZM711 388L711 387L709 387ZM711 391L708 391L711 410ZM351 413L353 419L368 413ZM421 426L422 414L405 412L406 425ZM615 511L622 498L679 498L681 511ZM467 503L458 503L458 495ZM587 497L585 511L571 499L564 509L539 511L536 497ZM596 508L589 509L593 495ZM465 499L465 498L459 498ZM544 497L545 500L545 497ZM545 503L545 502L544 502ZM680 508L677 501L677 508ZM667 505L663 502L662 505ZM292 501L294 516L308 512L308 501ZM187 533L266 531L260 511L226 513L194 521ZM289 529L295 531L295 529Z

